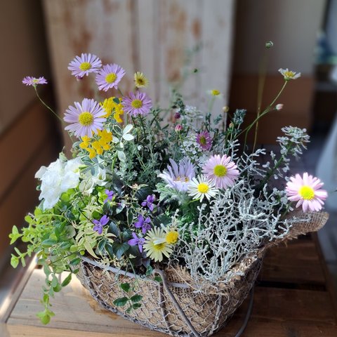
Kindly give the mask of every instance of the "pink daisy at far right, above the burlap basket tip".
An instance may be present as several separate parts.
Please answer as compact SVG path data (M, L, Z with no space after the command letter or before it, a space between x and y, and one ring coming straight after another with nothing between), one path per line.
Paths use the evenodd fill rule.
M296 207L302 205L303 212L319 211L328 197L328 192L322 190L324 184L318 178L303 173L303 177L296 174L286 183L286 195L290 201L298 201Z

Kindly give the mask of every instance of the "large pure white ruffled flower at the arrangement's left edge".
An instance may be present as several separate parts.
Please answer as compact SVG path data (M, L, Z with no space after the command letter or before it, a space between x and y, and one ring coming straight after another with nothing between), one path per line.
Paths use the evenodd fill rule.
M79 185L79 158L69 161L57 159L48 167L41 166L35 178L41 180L41 194L39 200L44 199L42 208L51 209L57 204L63 192Z

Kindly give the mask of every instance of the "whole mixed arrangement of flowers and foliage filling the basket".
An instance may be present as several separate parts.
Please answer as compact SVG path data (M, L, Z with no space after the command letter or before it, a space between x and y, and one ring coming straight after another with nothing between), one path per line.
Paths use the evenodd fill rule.
M245 110L230 114L224 107L212 119L218 90L210 92L206 114L185 105L176 90L169 109L161 109L143 91L149 81L141 72L134 74L134 90L124 94L119 82L126 72L119 65L102 65L96 55L81 54L68 69L77 79L95 76L98 91L113 94L68 107L62 122L77 138L73 158L61 153L39 169L41 203L26 216L27 227L14 226L10 235L11 244L28 243L25 252L15 249L13 267L37 254L44 268L44 310L38 314L44 324L54 315L51 297L70 283L84 257L138 279L180 265L200 290L229 282L240 275L235 266L245 256L286 237L298 220L289 216L293 206L304 213L322 209L327 192L318 178L287 176L291 157L300 156L309 141L304 129L282 128L279 153L246 145L259 119L282 109L277 98L300 73L280 69L284 86L277 98L244 127ZM44 77L22 82L35 91L47 83ZM165 117L168 112L171 119ZM64 271L70 274L60 282ZM137 277L119 282L124 296L114 305L126 312L142 305L143 296L128 296Z

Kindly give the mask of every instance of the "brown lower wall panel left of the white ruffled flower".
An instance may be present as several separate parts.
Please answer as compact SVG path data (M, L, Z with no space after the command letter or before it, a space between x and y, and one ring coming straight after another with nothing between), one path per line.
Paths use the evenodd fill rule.
M8 234L38 202L34 174L58 154L58 133L46 108L34 100L0 137L0 255L10 251ZM7 263L1 258L1 263ZM1 270L0 263L0 270Z

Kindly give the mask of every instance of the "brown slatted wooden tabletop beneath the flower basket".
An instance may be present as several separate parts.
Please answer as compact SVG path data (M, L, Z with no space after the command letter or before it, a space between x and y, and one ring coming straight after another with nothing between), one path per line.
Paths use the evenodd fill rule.
M167 336L105 313L77 279L56 294L56 316L43 326L35 316L41 310L43 282L43 272L33 270L0 326L1 337ZM246 300L215 336L233 337L247 306ZM336 337L336 312L336 297L317 237L301 237L267 253L255 288L251 319L242 337Z

